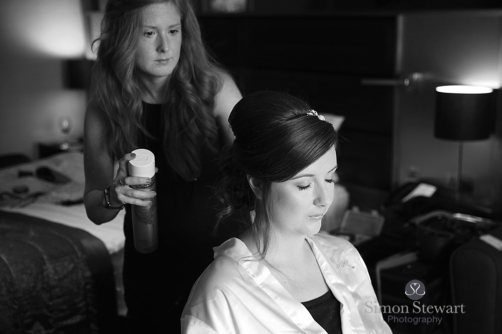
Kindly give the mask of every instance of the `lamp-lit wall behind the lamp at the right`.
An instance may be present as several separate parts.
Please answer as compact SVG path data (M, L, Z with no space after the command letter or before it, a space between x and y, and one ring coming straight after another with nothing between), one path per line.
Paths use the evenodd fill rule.
M435 87L499 88L502 13L405 14L398 22L398 72L422 77L412 92L396 88L394 184L409 180L413 170L419 178L446 184L448 178L456 177L458 142L434 138ZM493 136L464 143L463 175L473 181L474 201L485 207L493 207L494 201L500 205L493 183L499 177L493 174L494 145Z

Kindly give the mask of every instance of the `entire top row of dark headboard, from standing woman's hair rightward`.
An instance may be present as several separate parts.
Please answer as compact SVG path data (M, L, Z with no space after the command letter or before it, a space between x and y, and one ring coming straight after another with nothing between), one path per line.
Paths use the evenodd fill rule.
M209 47L226 66L394 72L394 17L203 17L200 22Z

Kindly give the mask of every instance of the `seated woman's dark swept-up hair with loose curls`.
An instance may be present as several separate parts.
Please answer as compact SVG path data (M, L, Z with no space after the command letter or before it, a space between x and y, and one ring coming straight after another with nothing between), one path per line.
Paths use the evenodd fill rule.
M228 122L235 139L222 155L217 195L225 207L218 223L234 209L247 212L245 223L264 257L270 236L271 184L291 179L331 147L338 150L337 133L304 101L273 91L242 98ZM262 181L261 199L255 196L247 175Z

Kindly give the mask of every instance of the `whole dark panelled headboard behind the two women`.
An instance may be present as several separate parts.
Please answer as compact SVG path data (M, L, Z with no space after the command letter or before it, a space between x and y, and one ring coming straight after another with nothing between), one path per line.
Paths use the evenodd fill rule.
M204 41L243 95L289 92L320 114L345 116L342 182L390 189L393 89L360 82L394 77L395 17L202 16L199 22Z

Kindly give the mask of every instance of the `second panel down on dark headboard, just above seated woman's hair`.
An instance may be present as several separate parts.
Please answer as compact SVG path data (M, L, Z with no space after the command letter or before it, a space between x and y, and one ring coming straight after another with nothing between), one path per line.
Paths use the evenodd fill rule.
M300 97L319 113L345 116L343 127L392 135L390 87L366 87L360 77L312 72L235 69L243 94L282 91Z

